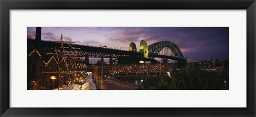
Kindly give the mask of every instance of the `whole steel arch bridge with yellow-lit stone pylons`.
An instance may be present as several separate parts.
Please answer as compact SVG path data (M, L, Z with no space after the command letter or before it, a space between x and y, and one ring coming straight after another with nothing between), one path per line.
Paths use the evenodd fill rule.
M158 57L162 59L171 59L182 63L187 62L187 57L183 56L179 47L172 41L161 41L147 46L146 41L141 40L139 52L137 52L137 48L134 43L130 44L128 51L106 48L106 46L94 47L74 43L75 42L71 41L63 41L62 35L60 41L42 41L41 33L36 34L35 40L28 39L28 46L33 46L40 49L41 52L49 53L49 51L54 50L56 53L59 53L62 56L73 55L76 57L83 57L85 63L89 63L90 57L96 57L101 58L102 63L104 58L108 58L109 64L113 64L113 59L117 59L119 56L141 56L146 59L155 59L155 57Z

